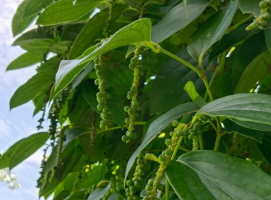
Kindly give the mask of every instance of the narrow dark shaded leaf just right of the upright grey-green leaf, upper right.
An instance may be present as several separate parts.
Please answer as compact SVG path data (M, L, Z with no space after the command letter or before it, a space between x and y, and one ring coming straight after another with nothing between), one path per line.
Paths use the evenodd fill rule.
M222 54L224 51L227 51L232 46L237 44L240 41L244 41L248 37L250 37L252 34L256 34L260 31L260 29L253 29L252 31L246 31L245 28L247 27L247 24L242 24L238 27L238 29L235 29L234 31L230 32L230 34L227 34L223 36L220 41L218 41L217 44L215 44L215 48L213 51L211 51L209 55L209 63L213 61L217 56Z

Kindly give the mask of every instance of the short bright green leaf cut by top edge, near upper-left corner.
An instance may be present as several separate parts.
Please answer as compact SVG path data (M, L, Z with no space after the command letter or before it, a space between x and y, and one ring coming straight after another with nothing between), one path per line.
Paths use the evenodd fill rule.
M26 4L26 8L24 9L23 18L26 19L29 16L35 16L42 11L42 9L46 9L47 6L53 3L53 0L29 0Z

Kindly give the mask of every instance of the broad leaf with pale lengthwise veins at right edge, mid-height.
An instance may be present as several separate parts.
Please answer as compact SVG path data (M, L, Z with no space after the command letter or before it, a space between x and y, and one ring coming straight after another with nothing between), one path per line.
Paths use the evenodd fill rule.
M240 121L271 125L271 96L266 94L234 94L217 99L198 112L209 116L227 116Z

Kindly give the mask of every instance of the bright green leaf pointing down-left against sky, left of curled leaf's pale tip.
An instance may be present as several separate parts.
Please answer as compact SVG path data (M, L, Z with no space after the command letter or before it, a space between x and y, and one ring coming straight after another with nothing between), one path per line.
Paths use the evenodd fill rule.
M15 91L9 103L10 109L34 99L41 91L51 86L54 82L55 74L55 71L41 71L32 76L31 79Z

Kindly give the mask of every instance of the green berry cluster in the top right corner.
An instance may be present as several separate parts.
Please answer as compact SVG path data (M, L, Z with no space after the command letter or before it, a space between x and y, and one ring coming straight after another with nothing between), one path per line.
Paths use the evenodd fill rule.
M267 21L271 19L271 0L260 1L261 14L258 19L255 19L252 24L247 26L247 31L252 29L257 29L259 27L264 27L267 25Z

